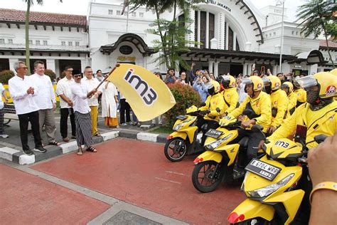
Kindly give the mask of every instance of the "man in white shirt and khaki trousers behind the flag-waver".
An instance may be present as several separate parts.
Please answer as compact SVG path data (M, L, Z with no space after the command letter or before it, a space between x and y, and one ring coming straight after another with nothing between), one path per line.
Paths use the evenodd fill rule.
M94 88L100 84L100 82L94 78L92 68L90 66L85 67L84 71L85 77L82 80L82 83L87 88L87 93L89 93ZM92 136L101 136L97 130L97 117L98 117L98 95L102 93L102 88L98 89L95 95L92 95L91 98L88 98L87 102L89 103L91 109L91 124L92 124Z

